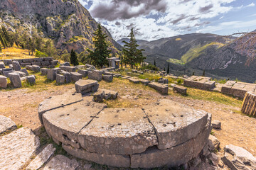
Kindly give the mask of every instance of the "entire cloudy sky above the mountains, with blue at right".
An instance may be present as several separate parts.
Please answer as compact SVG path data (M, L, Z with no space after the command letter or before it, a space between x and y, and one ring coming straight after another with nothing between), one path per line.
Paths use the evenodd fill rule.
M115 40L256 30L256 0L79 0Z

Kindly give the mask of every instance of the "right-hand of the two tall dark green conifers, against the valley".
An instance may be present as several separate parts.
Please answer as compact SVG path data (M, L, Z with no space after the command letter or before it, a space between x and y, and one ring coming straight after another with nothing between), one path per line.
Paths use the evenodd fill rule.
M142 63L146 57L142 55L142 51L144 51L143 49L137 49L139 45L137 45L137 40L135 39L133 28L129 34L129 38L129 42L122 41L125 44L122 50L124 54L123 62L125 64L129 64L130 67L133 68L135 64Z

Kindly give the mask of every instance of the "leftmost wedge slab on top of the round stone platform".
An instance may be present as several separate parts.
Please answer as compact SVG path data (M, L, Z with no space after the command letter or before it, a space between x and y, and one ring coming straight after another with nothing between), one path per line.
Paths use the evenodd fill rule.
M77 103L82 101L81 94L74 94L73 92L68 92L60 96L52 96L47 98L45 101L39 104L38 106L38 117L41 123L43 124L42 115L46 111L51 111L55 108L60 108L63 106L70 105L72 103Z

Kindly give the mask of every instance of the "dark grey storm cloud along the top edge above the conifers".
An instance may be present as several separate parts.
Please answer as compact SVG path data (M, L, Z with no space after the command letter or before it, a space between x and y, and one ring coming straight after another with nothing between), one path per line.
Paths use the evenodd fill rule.
M132 8L144 4L143 8L132 11ZM92 16L102 18L107 21L116 19L129 19L141 15L148 15L151 11L165 12L166 0L112 0L107 3L99 3L92 11Z

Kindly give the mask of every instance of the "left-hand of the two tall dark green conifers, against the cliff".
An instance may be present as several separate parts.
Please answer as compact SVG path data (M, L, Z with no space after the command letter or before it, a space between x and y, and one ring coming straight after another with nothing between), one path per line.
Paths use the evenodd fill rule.
M93 42L95 43L95 50L87 50L90 54L88 57L92 61L91 64L96 67L103 67L104 65L108 64L107 58L110 57L110 50L107 50L107 35L102 32L102 26L100 23L98 24L97 30L94 33L95 37L93 37L95 40Z

